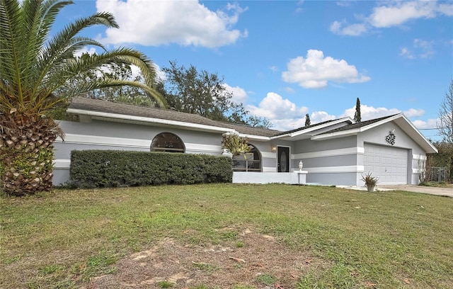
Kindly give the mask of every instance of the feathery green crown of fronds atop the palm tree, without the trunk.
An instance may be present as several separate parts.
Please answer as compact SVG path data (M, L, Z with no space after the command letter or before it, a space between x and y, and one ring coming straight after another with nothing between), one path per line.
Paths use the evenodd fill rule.
M134 86L166 106L154 89L156 67L137 50L118 48L106 51L101 42L80 36L85 28L102 25L117 28L111 13L95 13L69 23L50 37L59 11L73 4L71 0L0 0L0 111L15 108L19 112L42 115L61 98L67 84L77 83L80 75L108 64L134 64L142 72L144 83L103 79L71 86L61 95L74 96L111 86ZM74 58L83 47L100 47L104 52L91 57Z

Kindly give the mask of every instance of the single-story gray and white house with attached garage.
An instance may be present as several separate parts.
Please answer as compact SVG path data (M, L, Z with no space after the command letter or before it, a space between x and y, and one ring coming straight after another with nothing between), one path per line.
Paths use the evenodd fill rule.
M229 133L247 137L252 147L234 157L234 183L363 186L362 174L372 172L378 186L418 184L420 164L437 152L402 113L360 123L345 117L285 132L88 98L75 98L67 113L79 121L59 121L66 136L55 144L55 185L69 180L74 149L220 156L227 154L222 138Z

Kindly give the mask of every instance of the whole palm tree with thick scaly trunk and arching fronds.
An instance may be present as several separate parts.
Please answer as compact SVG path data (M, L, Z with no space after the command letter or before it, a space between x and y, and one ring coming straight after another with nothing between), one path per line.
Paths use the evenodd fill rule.
M146 55L127 48L105 50L100 42L79 36L94 25L117 28L110 13L81 18L50 34L59 11L69 4L73 2L0 0L0 183L8 194L52 187L53 146L63 134L48 114L59 102L94 89L127 85L143 89L159 106L166 106L154 89L156 69ZM86 45L103 52L74 57ZM79 74L106 64L136 65L144 83L99 79L55 94Z

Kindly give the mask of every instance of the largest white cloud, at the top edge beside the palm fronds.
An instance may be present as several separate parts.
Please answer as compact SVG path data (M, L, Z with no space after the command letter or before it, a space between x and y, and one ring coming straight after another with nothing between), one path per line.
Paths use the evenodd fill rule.
M238 4L210 11L198 1L98 0L96 8L113 13L120 26L105 31L108 44L221 47L247 36L232 28L246 10Z

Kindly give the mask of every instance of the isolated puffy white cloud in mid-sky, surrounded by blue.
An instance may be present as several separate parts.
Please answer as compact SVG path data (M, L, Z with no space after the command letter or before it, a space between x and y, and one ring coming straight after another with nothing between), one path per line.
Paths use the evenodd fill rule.
M369 77L359 74L354 65L345 60L324 57L319 50L308 50L306 58L299 56L289 60L287 71L282 72L282 79L297 83L305 89L326 87L328 81L338 83L359 83L369 81Z

